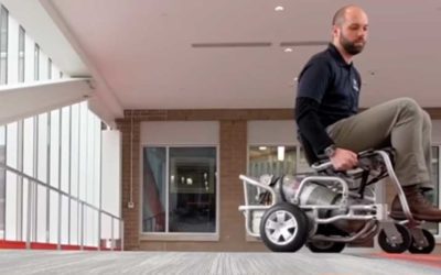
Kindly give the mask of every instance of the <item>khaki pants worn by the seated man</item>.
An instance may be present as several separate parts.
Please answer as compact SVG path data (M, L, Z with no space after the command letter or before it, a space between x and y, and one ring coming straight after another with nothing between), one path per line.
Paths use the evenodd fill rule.
M391 145L395 172L402 186L431 182L431 134L429 114L410 98L395 99L330 125L327 133L337 147L361 152Z

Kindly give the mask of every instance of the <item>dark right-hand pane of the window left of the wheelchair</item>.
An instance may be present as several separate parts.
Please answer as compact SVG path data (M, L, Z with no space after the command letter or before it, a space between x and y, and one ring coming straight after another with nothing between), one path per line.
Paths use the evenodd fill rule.
M216 148L170 148L169 231L215 232Z

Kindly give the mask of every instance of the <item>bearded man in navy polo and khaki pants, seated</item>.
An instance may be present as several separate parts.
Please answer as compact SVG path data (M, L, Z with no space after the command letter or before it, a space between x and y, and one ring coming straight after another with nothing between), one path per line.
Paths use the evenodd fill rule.
M441 221L441 210L423 196L431 184L431 121L412 99L400 98L358 113L361 76L353 65L367 41L367 14L356 6L340 9L332 42L314 55L299 76L295 120L315 154L337 170L357 165L357 154L387 144L396 150L395 170L418 220ZM390 216L405 219L398 197Z

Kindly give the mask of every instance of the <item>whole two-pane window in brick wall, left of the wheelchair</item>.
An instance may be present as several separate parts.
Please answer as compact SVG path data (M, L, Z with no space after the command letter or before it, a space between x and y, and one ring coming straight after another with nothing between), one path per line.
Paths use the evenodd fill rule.
M216 231L216 147L144 147L143 164L143 232Z

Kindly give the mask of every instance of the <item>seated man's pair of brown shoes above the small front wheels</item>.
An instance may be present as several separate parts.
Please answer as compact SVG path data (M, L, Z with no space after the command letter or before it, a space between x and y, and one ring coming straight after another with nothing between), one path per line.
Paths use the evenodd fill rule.
M441 209L432 206L432 204L428 201L424 196L422 196L418 185L405 186L402 187L402 190L405 191L410 212L413 215L413 219L441 222ZM398 195L394 198L390 209L390 217L397 220L407 219L401 209Z

